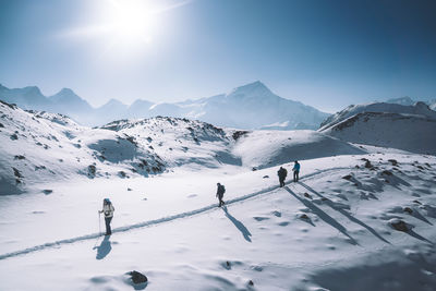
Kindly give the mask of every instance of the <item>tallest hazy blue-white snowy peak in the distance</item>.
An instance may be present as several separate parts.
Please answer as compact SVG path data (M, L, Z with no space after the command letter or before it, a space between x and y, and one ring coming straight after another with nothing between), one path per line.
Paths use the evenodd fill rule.
M185 114L238 129L316 129L328 116L313 107L281 98L262 82L238 87L226 95L205 98L183 107Z

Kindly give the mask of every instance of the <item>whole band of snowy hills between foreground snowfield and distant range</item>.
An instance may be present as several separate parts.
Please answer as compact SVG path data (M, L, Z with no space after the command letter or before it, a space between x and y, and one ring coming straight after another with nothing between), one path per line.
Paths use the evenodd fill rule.
M361 154L314 131L247 132L202 121L156 117L101 128L0 104L0 194L71 177L147 177L178 167L262 169L292 159ZM323 150L320 150L323 149Z

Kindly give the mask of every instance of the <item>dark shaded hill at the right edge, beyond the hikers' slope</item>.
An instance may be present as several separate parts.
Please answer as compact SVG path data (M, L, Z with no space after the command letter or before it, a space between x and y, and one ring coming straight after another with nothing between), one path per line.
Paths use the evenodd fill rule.
M436 154L436 112L423 102L350 106L318 131L350 143Z

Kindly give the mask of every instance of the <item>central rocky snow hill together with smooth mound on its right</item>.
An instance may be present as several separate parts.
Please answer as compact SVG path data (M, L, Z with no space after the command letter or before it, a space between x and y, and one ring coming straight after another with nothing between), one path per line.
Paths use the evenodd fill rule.
M366 151L314 131L237 131L187 119L155 118L116 121L104 129L149 144L168 167L262 169L295 159Z

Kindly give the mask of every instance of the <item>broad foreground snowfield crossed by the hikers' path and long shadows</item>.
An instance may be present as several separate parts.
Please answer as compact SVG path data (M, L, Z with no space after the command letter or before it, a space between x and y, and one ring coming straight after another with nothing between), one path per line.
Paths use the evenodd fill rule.
M420 155L338 156L302 161L301 183L283 189L277 168L225 167L0 196L0 289L433 290L435 167ZM105 196L116 216L101 238ZM134 286L131 270L148 283Z

